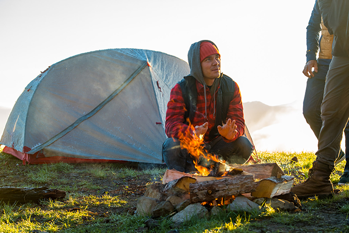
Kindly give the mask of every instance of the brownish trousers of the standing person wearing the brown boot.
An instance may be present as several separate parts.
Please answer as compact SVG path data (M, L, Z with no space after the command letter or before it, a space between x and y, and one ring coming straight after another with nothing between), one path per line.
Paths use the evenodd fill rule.
M321 104L321 118L322 127L318 137L316 160L333 168L349 118L349 57L333 56L327 73ZM346 135L346 151L348 147ZM349 161L348 158L346 159L347 169Z

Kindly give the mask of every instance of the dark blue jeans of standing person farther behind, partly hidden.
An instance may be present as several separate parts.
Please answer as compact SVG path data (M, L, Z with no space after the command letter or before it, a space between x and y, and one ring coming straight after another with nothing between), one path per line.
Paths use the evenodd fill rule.
M317 64L317 73L314 72L314 77L308 79L303 100L303 116L315 136L319 137L322 119L321 119L321 103L324 95L326 75L329 66ZM346 166L349 169L349 124L347 124L344 135L346 138ZM344 153L340 150L340 153Z

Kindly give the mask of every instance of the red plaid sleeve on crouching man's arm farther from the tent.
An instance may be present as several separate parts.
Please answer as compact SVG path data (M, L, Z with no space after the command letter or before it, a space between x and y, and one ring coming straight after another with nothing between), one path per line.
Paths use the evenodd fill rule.
M234 138L231 140L228 140L223 137L225 142L233 142L239 136L242 136L245 133L245 119L243 116L241 93L237 83L235 83L235 92L234 92L233 100L230 101L230 104L229 104L227 119L229 118L236 121L235 124L238 127L237 128L238 133L235 134Z

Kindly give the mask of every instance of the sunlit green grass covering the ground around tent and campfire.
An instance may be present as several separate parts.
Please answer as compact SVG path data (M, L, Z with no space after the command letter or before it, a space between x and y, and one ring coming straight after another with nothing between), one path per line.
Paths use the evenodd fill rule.
M293 157L298 162L291 162ZM277 163L295 183L303 182L316 158L312 152L287 153L262 151L262 163ZM331 176L338 182L345 162ZM247 232L348 232L349 187L337 187L341 193L333 198L303 200L301 212L280 212L266 204L253 213L222 211L216 216L192 218L174 226L169 218L156 219L158 225L148 229L148 217L134 214L138 197L145 186L161 182L166 169L139 170L120 164L49 164L23 166L15 157L0 153L1 186L47 186L66 191L63 200L39 203L0 203L0 232L157 232L177 229L180 233ZM138 185L142 181L142 185ZM143 189L142 189L143 188Z

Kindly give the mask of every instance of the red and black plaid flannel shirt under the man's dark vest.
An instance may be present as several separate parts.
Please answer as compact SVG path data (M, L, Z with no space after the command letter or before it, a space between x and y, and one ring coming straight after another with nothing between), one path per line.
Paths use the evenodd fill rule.
M215 93L215 103L213 103L213 97L206 87L206 100L207 100L207 120L205 119L205 95L204 95L204 85L196 81L196 90L197 90L197 104L196 112L191 124L195 126L200 126L206 121L208 122L208 129L204 136L204 141L209 142L209 132L212 127L215 125L215 116L213 104L215 104L216 114L217 114L217 93L218 88ZM185 103L182 96L182 90L177 83L174 88L171 90L170 101L167 104L166 112L166 122L165 122L165 133L168 137L179 138L179 132L185 133L189 126L184 124L184 114L185 114ZM235 141L239 136L243 135L245 132L245 120L243 118L243 107L241 101L241 93L238 87L238 84L235 83L235 92L233 100L230 102L227 119L231 118L236 121L238 133L234 136L233 139L228 140L223 137L224 141L232 142ZM192 134L192 132L190 132Z

